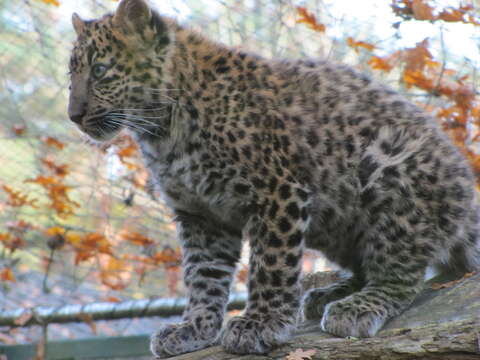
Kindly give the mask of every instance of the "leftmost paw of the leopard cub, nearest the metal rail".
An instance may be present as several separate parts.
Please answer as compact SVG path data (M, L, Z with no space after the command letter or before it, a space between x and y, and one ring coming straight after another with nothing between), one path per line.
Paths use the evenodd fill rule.
M150 350L157 359L197 351L218 343L218 335L199 332L190 322L169 324L154 333Z

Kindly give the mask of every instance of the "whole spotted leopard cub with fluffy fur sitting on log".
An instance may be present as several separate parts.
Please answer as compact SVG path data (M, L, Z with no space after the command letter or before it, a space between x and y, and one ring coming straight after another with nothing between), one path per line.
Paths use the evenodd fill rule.
M70 119L99 141L129 131L176 214L188 305L153 335L158 358L217 343L266 353L300 313L373 336L428 266L479 267L472 172L396 92L347 66L218 44L145 0L73 26ZM222 330L244 239L248 303ZM302 300L305 247L352 276Z

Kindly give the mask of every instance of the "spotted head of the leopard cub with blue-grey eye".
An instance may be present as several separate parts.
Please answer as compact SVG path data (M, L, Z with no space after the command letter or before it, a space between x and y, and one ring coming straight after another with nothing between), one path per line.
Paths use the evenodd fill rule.
M68 115L95 140L122 128L144 130L159 118L163 68L172 47L172 23L145 0L122 0L97 20L72 17L77 40L70 58Z

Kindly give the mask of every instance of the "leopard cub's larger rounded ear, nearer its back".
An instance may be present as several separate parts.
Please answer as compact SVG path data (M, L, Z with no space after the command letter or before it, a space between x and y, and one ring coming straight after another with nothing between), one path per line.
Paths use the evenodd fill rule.
M122 0L113 16L113 23L125 35L143 34L152 11L144 0Z

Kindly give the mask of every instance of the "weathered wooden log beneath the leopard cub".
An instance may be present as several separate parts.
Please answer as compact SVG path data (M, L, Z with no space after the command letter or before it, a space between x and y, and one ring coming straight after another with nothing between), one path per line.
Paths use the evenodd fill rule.
M305 288L318 286L325 275L315 276L320 280L307 279ZM414 303L372 338L333 337L321 332L318 322L310 322L302 324L288 343L264 356L228 354L215 346L170 360L285 360L297 349L315 350L311 359L316 360L480 359L480 273L446 280L442 286L438 278L427 282Z

